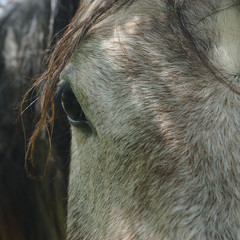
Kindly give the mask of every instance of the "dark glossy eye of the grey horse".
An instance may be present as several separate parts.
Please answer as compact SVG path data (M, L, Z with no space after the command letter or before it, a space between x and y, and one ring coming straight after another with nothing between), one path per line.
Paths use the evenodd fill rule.
M72 90L63 89L61 103L63 110L67 114L68 120L71 124L87 121L86 116Z

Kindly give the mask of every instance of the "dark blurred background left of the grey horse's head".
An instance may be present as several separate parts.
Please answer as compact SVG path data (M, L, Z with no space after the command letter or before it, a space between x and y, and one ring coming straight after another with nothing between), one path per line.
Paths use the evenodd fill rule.
M79 0L0 0L0 240L65 239L68 123L57 112L46 171L48 141L46 134L40 136L37 165L28 163L39 177L33 180L26 174L25 151L37 120L40 88L29 95L24 114L18 114L32 79L46 67L47 49L78 6Z

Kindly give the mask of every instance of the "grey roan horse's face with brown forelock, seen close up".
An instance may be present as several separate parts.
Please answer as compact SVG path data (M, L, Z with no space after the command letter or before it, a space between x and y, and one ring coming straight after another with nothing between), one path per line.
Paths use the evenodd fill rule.
M240 239L239 25L239 0L82 1L28 149L60 96L68 240Z

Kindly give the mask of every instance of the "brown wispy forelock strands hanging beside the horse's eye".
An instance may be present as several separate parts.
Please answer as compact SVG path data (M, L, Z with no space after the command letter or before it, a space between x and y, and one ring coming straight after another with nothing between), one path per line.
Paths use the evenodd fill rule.
M53 46L49 56L47 69L39 78L34 81L31 88L25 94L20 107L20 112L22 113L23 104L29 94L33 89L42 86L43 90L41 92L41 115L35 127L35 130L30 137L26 151L26 160L30 160L32 165L35 164L35 142L38 135L43 129L47 129L51 150L51 131L55 112L54 92L59 82L59 76L69 62L69 59L73 55L76 47L81 43L89 30L96 23L104 20L106 17L115 13L122 7L131 4L133 1L134 0L91 0L84 2L74 15L63 36Z

